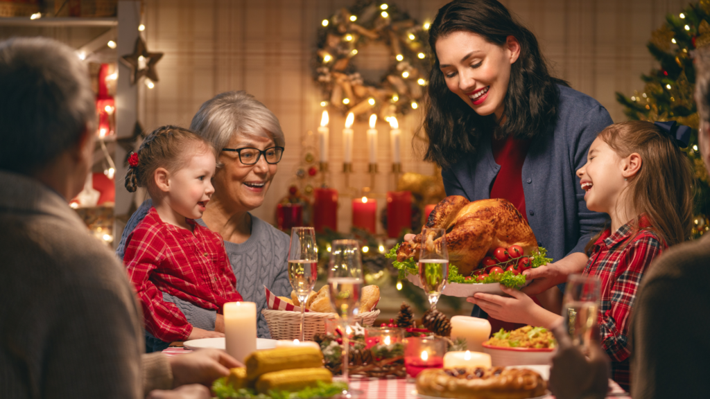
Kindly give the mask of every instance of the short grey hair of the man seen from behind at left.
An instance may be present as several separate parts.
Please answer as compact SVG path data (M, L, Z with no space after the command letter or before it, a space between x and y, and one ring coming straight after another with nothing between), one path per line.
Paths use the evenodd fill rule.
M33 173L96 129L86 65L49 38L0 42L0 170Z

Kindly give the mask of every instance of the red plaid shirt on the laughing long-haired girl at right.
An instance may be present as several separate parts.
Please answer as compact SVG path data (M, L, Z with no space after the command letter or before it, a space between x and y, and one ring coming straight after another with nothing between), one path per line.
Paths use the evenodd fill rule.
M601 279L601 346L611 358L611 378L626 390L630 383L628 327L633 300L643 273L667 248L653 231L644 230L649 226L646 217L641 217L639 226L641 230L633 237L632 222L614 234L610 229L603 231L583 273Z

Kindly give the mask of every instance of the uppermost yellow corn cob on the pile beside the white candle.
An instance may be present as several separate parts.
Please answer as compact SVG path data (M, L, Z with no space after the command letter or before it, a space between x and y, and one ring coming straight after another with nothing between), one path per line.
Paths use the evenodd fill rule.
M323 366L323 354L315 348L276 348L256 351L246 357L246 376L255 380L273 371Z

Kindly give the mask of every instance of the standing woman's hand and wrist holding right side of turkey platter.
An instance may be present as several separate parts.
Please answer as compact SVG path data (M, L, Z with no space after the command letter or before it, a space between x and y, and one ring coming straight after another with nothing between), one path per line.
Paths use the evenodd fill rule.
M567 275L584 271L588 260L589 258L584 253L574 252L555 263L547 263L539 268L525 270L523 275L527 280L532 280L532 283L523 287L522 291L528 295L537 295L555 285L565 283Z

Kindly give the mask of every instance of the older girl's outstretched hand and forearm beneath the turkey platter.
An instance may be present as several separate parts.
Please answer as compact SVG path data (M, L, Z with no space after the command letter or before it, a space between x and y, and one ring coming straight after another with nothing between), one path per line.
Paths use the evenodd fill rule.
M528 295L514 288L501 284L503 293L510 297L500 295L476 293L466 301L479 305L484 312L503 322L523 323L533 326L547 327L560 317L537 306Z

